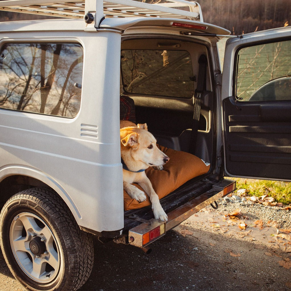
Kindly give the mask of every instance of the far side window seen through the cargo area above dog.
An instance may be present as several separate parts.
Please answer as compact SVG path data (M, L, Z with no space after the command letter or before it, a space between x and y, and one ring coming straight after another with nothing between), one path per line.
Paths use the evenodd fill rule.
M190 54L177 50L122 50L126 92L191 98L194 77Z

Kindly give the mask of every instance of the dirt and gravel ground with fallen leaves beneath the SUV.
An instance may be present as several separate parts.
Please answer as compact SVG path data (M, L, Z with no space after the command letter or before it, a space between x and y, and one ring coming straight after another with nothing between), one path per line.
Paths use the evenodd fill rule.
M245 230L239 222L247 224ZM274 224L230 219L205 209L153 242L133 246L95 239L92 274L80 291L291 290L290 235ZM0 253L0 290L25 290Z

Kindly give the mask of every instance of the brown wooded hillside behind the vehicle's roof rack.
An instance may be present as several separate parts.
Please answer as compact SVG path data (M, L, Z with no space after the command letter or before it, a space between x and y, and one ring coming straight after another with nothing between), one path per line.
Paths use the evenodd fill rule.
M143 0L159 2L162 0ZM291 23L291 0L197 0L204 22L222 26L239 35ZM39 19L36 15L0 12L0 21ZM47 18L47 17L46 17Z

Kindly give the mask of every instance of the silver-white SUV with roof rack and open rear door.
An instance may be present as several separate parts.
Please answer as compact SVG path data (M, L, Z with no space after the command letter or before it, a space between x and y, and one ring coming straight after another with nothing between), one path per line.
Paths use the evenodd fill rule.
M0 6L69 18L0 23L0 239L28 290L77 290L92 235L146 248L232 192L224 176L291 179L290 27L230 37L222 75L217 43L230 32L196 2ZM177 161L163 180L167 223L123 192L129 116Z

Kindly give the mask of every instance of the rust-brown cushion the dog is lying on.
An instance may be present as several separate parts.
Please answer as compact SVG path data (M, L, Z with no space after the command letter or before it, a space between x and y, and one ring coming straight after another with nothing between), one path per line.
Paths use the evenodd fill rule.
M188 152L172 150L161 145L158 147L170 160L164 165L164 170L154 170L150 167L145 170L145 173L150 179L152 187L158 194L159 199L170 194L188 180L209 171L210 164L206 165L203 160ZM143 190L139 185L134 185ZM124 210L137 209L150 205L150 198L148 195L146 196L147 200L138 202L132 199L126 191L123 191Z

